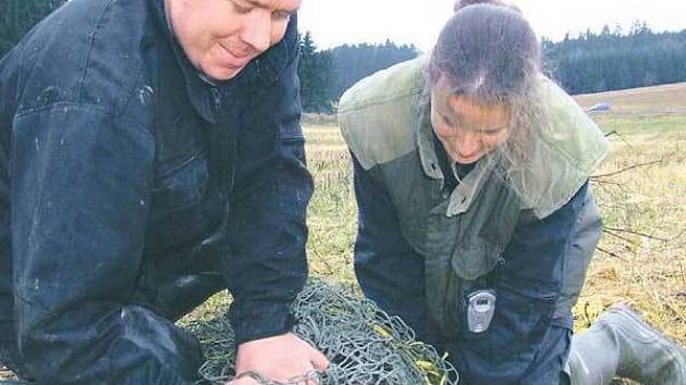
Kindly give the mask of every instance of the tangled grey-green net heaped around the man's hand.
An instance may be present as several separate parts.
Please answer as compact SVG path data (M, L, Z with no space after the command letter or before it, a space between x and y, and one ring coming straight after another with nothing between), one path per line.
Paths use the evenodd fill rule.
M389 316L368 299L321 282L305 287L292 306L294 333L327 356L331 365L291 381L275 382L247 372L260 384L424 384L457 383L457 371L436 349L417 341L414 332ZM200 383L225 384L235 378L234 334L225 318L194 321L188 328L198 337L206 362ZM309 382L308 382L309 381Z

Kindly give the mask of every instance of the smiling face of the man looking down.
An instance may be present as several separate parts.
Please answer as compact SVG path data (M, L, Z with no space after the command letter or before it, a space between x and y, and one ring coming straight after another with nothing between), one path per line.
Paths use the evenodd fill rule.
M302 0L164 0L167 17L188 60L228 80L281 41Z

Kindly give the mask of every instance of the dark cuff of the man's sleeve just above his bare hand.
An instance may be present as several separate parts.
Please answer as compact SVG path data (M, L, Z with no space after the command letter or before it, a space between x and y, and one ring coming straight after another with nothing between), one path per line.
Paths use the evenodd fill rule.
M241 301L230 310L236 346L292 331L294 319L290 302Z

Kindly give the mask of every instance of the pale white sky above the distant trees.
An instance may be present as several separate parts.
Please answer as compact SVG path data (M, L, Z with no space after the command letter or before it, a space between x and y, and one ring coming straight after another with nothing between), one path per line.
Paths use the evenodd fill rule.
M539 37L560 40L604 24L627 32L635 20L656 32L686 29L686 0L515 0ZM303 0L302 32L318 48L343 44L414 42L428 50L452 14L454 0Z

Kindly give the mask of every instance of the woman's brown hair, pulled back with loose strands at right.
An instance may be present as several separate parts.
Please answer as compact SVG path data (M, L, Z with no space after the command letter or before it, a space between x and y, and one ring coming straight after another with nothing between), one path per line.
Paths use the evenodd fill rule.
M540 45L518 9L499 0L458 1L431 53L426 95L441 82L481 104L505 105L511 134L494 153L507 171L523 169L529 140L549 126L537 91L540 74Z

